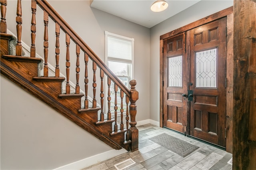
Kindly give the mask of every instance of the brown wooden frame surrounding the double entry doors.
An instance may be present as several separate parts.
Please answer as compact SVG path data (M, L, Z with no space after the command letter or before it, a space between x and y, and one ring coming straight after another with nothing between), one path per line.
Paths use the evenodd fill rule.
M220 12L217 12L215 14L212 14L210 16L207 16L205 18L202 18L201 20L195 21L193 23L190 23L188 25L185 25L184 27L175 29L174 31L171 31L169 33L166 33L164 35L160 36L160 127L163 127L163 40L172 37L174 35L177 35L179 33L188 31L190 29L193 29L195 27L204 25L206 23L218 20L220 18L227 17L227 47L233 47L233 7L227 8L225 10L222 10ZM227 108L226 108L226 127L227 127L227 138L226 138L226 151L232 153L232 117L233 117L233 107L232 107L232 101L233 101L233 95L232 95L232 87L233 87L233 48L227 49L227 93L226 93L226 99L227 99ZM231 66L231 68L228 68L228 66Z

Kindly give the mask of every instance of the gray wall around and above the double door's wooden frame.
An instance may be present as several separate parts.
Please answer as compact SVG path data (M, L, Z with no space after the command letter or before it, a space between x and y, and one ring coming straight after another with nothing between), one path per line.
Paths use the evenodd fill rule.
M160 118L160 35L233 6L231 0L202 0L150 28L150 119Z

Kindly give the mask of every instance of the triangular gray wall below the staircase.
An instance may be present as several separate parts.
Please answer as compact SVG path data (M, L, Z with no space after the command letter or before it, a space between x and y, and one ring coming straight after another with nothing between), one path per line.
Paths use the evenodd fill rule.
M1 169L54 169L111 147L1 76Z

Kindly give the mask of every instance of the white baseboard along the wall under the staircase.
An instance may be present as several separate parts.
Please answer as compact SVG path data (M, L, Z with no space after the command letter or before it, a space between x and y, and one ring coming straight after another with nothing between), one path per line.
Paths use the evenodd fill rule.
M113 149L113 150L109 150L107 152L96 154L96 155L88 157L88 158L84 158L82 160L78 160L71 164L67 164L67 165L58 167L54 170L81 170L88 166L92 166L94 164L100 163L100 162L108 160L110 158L114 158L115 156L124 154L126 152L128 152L128 151L125 149L120 149L120 150Z

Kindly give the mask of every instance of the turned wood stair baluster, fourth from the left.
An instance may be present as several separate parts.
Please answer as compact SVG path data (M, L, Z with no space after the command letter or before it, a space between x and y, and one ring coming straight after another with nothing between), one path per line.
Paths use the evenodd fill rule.
M48 77L48 16L44 11L44 77Z

